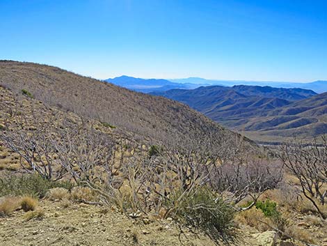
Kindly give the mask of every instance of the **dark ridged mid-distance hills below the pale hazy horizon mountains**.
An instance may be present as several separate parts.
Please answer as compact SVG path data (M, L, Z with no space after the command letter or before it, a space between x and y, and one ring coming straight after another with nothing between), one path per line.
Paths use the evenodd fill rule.
M184 102L255 140L256 132L268 140L269 136L310 138L327 133L327 93L269 86L204 86L153 94Z

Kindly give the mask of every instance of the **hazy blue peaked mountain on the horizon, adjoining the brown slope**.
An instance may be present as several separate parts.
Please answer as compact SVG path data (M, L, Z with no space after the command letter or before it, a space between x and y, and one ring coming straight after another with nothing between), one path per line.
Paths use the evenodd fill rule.
M180 84L166 79L141 79L129 76L120 76L104 80L117 86L122 86L133 91L149 93L151 91L168 91L170 89L194 89L196 84Z

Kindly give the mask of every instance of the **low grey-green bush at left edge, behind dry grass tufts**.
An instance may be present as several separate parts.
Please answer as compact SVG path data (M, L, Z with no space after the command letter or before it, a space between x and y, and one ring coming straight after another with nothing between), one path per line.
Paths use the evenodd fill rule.
M45 197L47 191L54 187L64 187L71 190L73 185L70 182L50 181L42 178L38 174L13 175L5 174L0 177L0 197L3 196L23 196Z

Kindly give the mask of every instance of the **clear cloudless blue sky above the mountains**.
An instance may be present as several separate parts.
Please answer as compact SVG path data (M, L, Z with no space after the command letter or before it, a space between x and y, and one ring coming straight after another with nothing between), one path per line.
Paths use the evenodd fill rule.
M0 0L0 59L99 79L327 79L327 1Z

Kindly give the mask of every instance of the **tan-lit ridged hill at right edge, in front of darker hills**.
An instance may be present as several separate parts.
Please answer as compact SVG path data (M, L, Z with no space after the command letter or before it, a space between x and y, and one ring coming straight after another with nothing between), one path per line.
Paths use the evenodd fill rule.
M267 111L242 126L250 135L310 139L327 133L327 93ZM255 133L256 132L256 133ZM260 137L259 137L260 136Z

